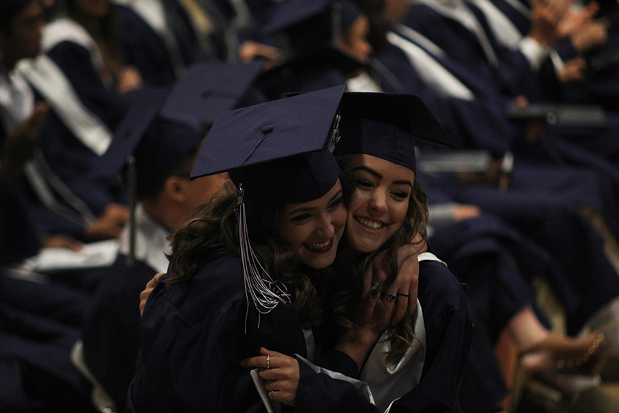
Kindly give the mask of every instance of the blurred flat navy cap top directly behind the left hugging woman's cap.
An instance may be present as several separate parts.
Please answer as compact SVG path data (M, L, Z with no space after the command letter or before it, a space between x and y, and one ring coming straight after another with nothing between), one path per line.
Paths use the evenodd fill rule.
M175 83L161 114L196 129L211 125L239 103L263 69L263 63L199 63Z

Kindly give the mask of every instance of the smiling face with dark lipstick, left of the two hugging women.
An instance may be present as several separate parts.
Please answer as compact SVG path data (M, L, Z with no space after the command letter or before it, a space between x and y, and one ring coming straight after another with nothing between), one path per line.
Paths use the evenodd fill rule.
M322 198L287 204L277 231L290 244L298 262L322 269L333 264L345 224L346 209L338 180Z

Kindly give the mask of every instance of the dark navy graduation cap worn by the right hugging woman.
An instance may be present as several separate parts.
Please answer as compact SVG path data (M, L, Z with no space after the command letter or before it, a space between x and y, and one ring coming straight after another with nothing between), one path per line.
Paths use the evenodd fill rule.
M367 153L415 171L415 145L455 142L415 95L348 92L342 98L334 155Z

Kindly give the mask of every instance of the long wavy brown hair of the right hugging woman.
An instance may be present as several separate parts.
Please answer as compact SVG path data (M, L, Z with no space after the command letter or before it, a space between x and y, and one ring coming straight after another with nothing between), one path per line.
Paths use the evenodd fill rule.
M347 163L354 155L338 156L338 163L342 171L346 170ZM345 172L342 172L345 174ZM345 178L351 180L351 178ZM413 180L413 189L409 198L409 207L406 211L406 218L400 229L393 234L387 242L382 244L377 251L365 255L361 260L358 260L352 268L351 274L345 281L346 288L341 293L336 295L336 304L334 304L334 319L343 328L354 328L354 316L361 308L361 293L363 275L371 267L372 261L382 251L387 251L387 259L389 260L390 274L386 285L391 284L398 276L398 250L405 244L421 244L426 241L426 226L428 223L428 195L422 188L420 182ZM420 235L420 236L419 236ZM415 241L413 241L415 240ZM378 304L382 305L381 300ZM392 363L399 361L417 339L413 326L408 319L404 319L398 326L389 326L389 335L391 339L391 351L385 354L384 363L389 366Z

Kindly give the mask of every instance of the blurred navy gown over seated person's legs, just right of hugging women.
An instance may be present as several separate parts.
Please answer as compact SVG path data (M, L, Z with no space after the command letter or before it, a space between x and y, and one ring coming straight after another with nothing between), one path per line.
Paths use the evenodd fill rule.
M536 306L528 280L549 277L556 271L554 262L550 254L487 214L442 226L430 242L464 284L475 326L462 380L461 405L465 412L495 411L508 395L495 344L508 322L525 306L533 308L550 327Z

